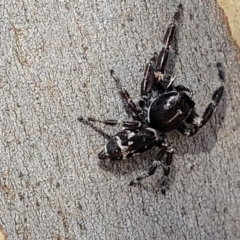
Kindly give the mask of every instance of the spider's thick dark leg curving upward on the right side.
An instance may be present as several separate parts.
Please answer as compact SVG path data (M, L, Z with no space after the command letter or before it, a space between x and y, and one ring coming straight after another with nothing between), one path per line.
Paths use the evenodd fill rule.
M212 117L215 108L222 98L223 91L224 87L221 86L213 93L212 102L208 104L202 117L199 116L193 109L190 116L186 119L186 122L192 124L193 128L188 128L184 123L182 123L177 130L187 136L195 135Z

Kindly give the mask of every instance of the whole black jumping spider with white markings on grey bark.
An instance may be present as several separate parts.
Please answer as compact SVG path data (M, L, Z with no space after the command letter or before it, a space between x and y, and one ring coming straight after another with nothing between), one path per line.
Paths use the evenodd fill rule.
M167 178L170 174L170 166L173 159L173 148L168 142L165 133L178 130L184 135L193 136L211 118L215 107L221 100L224 87L218 88L211 103L204 114L199 116L195 111L195 103L186 92L191 90L173 84L175 78L164 76L165 66L170 52L170 45L175 36L176 26L182 11L182 5L178 6L172 23L169 25L164 37L164 46L159 55L155 55L146 66L144 78L141 84L141 100L136 105L128 92L121 87L120 81L111 75L119 88L120 95L125 101L127 111L131 111L132 121L96 120L94 118L79 117L78 120L91 125L96 131L109 138L105 148L98 154L99 159L120 160L140 154L153 146L158 146L160 151L153 161L149 171L130 182L130 185L154 174L157 167L163 167L162 193L167 187ZM223 80L221 64L217 64L219 77ZM91 122L100 122L107 125L121 124L122 130L114 136L108 136L102 130L96 128ZM167 155L163 161L164 155Z

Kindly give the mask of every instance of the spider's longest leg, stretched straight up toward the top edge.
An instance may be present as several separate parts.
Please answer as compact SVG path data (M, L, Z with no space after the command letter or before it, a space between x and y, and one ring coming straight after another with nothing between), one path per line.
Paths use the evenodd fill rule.
M158 55L156 71L154 73L154 75L158 79L158 81L161 81L164 76L164 71L165 71L167 60L168 60L170 46L171 46L172 40L175 36L176 26L180 19L181 10L182 10L182 5L179 4L178 9L177 9L176 13L174 14L173 21L169 25L169 27L165 33L165 36L164 36L164 40L163 40L164 46Z

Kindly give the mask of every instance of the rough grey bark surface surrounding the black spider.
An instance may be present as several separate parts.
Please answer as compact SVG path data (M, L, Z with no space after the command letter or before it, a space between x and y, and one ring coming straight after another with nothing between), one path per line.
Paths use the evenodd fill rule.
M166 196L161 169L128 186L157 149L99 164L106 140L77 121L127 119L109 70L137 101L178 4L2 2L0 225L9 240L240 239L239 53L215 1L183 3L173 73L200 113L222 84L217 62L226 90L197 136L168 134L175 155Z

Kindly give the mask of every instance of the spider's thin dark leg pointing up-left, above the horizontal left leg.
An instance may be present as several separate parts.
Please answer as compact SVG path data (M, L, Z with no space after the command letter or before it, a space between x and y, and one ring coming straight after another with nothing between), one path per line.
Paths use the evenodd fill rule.
M141 112L141 109L139 107L137 107L137 105L133 102L133 100L131 99L128 91L124 87L122 87L119 78L115 77L114 71L111 70L110 73L111 73L112 78L116 82L117 88L119 90L119 94L120 94L121 99L123 101L125 111L129 115L129 108L130 108L130 110L134 114L138 115Z

